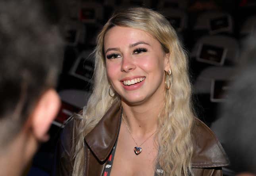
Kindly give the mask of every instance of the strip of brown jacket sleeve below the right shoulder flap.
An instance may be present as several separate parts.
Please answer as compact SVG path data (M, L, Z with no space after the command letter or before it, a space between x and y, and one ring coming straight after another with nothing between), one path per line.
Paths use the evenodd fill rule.
M218 168L193 168L194 176L222 176L221 167Z

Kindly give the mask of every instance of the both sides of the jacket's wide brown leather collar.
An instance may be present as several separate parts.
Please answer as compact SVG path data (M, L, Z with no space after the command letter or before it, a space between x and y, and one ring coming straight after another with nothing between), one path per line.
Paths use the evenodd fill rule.
M212 130L199 119L195 118L194 121L192 167L229 165L227 155ZM121 105L116 101L98 124L85 136L85 142L99 161L106 161L110 155L119 134L120 124Z

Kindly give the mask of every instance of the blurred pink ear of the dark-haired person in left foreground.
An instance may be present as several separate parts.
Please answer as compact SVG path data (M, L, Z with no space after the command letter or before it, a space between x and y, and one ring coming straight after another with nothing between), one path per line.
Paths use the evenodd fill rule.
M47 134L52 121L60 109L60 98L54 89L49 89L40 97L32 113L32 129L34 136L40 142L49 140Z

